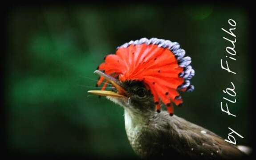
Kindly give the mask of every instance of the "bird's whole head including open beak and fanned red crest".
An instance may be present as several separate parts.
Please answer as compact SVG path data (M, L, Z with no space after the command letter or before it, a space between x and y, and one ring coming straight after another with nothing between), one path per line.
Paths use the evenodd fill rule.
M191 58L177 42L157 38L130 41L117 48L116 54L107 55L95 73L100 75L96 86L90 90L121 105L133 113L148 115L166 106L172 116L173 104L183 100L179 91L191 92L190 79L195 75ZM107 91L111 84L114 91Z

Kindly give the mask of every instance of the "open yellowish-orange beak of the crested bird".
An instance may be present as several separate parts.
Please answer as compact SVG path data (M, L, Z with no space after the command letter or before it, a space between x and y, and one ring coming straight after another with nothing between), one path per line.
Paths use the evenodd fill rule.
M116 92L112 91L104 91L104 90L90 90L88 93L100 95L100 96L112 96L112 97L120 97L120 98L127 98L127 92L120 86L119 80L115 79L114 77L107 75L99 70L94 71L94 73L103 76L108 82L110 82L116 89Z

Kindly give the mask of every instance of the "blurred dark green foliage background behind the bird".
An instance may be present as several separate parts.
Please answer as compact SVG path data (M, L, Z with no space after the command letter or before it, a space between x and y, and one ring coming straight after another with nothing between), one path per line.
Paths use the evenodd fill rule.
M220 59L230 45L221 28L236 20L235 58L228 74ZM175 114L227 137L228 127L249 145L248 97L252 64L249 19L240 8L198 5L71 5L16 7L8 14L8 148L24 153L135 157L126 138L123 109L87 93L103 57L130 40L157 37L177 41L191 56L195 91L183 93ZM229 37L231 38L231 37ZM237 117L221 112L223 89L236 85Z

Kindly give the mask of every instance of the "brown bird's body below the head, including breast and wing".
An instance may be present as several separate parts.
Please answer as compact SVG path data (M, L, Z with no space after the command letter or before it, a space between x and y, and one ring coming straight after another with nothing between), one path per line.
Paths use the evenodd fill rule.
M211 131L168 112L134 118L125 111L125 128L130 145L141 158L233 160L245 156Z

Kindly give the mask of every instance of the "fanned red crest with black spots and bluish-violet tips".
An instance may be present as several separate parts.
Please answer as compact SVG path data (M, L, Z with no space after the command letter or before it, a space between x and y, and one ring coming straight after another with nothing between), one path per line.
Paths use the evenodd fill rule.
M190 79L195 75L189 65L191 58L184 57L185 51L179 47L177 42L157 38L130 41L118 47L116 54L106 56L98 69L120 81L143 81L153 94L158 111L162 102L172 115L172 103L183 103L178 91L194 90L190 85ZM98 86L103 81L104 77L101 77ZM102 90L105 88L106 83Z

